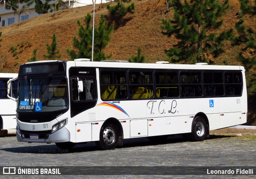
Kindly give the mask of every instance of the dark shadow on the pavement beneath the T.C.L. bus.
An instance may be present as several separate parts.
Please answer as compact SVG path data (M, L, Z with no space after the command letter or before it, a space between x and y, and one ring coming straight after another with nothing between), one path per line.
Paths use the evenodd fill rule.
M206 140L212 139L222 139L230 138L234 136L224 136L224 135L210 135ZM169 136L164 141L151 141L146 137L143 138L132 138L123 140L123 146L117 146L116 148L133 148L142 146L158 146L164 144L176 144L190 142L182 137L182 135ZM90 152L90 151L100 151L94 142L87 142L86 144L77 144L72 149L60 149L55 144L47 144L40 146L26 146L26 147L14 147L14 148L2 148L0 150L12 152L12 153L48 153L48 154L64 154L64 153L80 153L80 152Z

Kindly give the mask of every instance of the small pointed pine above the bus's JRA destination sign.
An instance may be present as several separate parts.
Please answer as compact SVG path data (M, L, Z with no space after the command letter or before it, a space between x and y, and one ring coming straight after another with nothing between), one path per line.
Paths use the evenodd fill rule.
M44 54L43 55L44 58L50 59L50 60L56 60L61 58L60 51L57 50L57 38L55 33L52 36L51 45L49 45L48 43L46 44L46 49L47 49L48 55Z

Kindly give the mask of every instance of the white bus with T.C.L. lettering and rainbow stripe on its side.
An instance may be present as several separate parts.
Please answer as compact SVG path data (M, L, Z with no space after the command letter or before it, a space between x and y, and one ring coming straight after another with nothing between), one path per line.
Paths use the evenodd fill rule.
M170 134L202 141L209 130L246 122L244 67L117 62L21 65L17 140L113 149Z

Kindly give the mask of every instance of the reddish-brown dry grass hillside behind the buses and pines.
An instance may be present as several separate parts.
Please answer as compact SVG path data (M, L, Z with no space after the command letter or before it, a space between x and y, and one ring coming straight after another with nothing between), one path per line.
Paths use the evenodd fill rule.
M116 28L111 34L111 41L104 49L104 53L106 55L112 54L111 59L127 60L132 55L136 55L137 48L140 46L147 63L168 61L164 49L172 47L176 43L176 39L163 35L160 26L162 25L162 18L171 19L173 17L173 9L169 7L167 10L166 0L132 1L135 4L135 13L127 14L121 27L115 24ZM115 3L109 2L107 4ZM96 4L95 7L96 26L101 14L104 14L107 19L109 16L106 4L103 4L101 9L99 6ZM37 58L44 60L42 56L46 53L46 43L51 43L53 33L56 34L62 60L69 60L66 49L73 49L73 37L77 36L78 31L77 20L83 22L86 14L92 14L92 10L92 5L70 8L59 11L56 18L54 13L48 13L23 21L21 26L17 26L18 23L16 23L0 27L0 31L2 31L0 72L17 73L19 66L32 57L32 51L35 48L37 49ZM236 13L239 10L239 1L230 0L230 10L223 16L224 25L220 31L230 28L235 31L234 24L238 22ZM244 20L247 27L256 31L255 16L244 15ZM11 52L14 47L16 47L16 56ZM238 63L236 55L242 47L233 47L230 42L226 42L224 48L225 52L216 59L212 58L211 61L218 65L241 65ZM255 101L254 99L250 100Z

